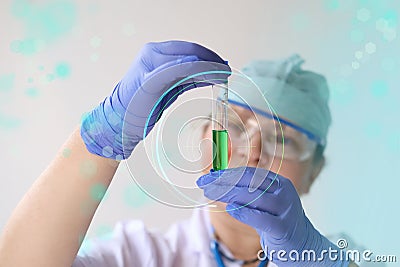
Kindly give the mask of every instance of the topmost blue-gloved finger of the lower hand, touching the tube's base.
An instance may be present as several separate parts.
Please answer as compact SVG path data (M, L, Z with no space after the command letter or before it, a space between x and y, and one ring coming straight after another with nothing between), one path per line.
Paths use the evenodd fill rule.
M222 171L211 170L208 174L201 176L197 185L202 188L212 183L220 186L237 186L248 188L249 191L259 189L269 193L278 193L281 188L281 181L286 178L262 168L238 167Z

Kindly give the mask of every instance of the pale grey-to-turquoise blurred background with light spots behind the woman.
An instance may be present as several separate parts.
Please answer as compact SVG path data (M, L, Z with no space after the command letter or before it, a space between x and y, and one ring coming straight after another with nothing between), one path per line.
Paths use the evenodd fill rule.
M306 212L325 234L346 233L399 257L399 12L399 1L372 0L1 1L0 230L139 49L179 39L209 47L234 68L299 53L305 69L326 75L327 166L303 197ZM126 219L166 230L191 212L148 197L122 164L89 236Z

